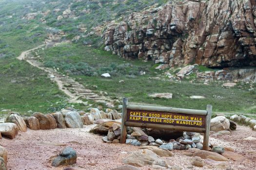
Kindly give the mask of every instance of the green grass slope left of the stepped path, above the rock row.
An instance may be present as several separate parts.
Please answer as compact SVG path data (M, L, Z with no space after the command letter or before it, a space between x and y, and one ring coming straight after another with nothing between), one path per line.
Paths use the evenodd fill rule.
M1 59L0 79L0 110L50 113L72 105L45 72L25 61Z

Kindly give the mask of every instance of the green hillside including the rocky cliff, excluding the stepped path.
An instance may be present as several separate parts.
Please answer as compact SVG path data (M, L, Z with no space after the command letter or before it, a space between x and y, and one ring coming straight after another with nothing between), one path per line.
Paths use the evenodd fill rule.
M241 15L255 20L255 4L249 0L246 0L248 3L218 2L1 0L0 110L47 113L72 105L85 110L102 104L88 99L81 99L88 105L70 103L63 89L59 89L47 73L16 59L22 51L47 44L32 51L31 57L38 57L43 67L58 68L59 74L69 76L96 94L105 92L116 101L116 108L122 97L129 97L132 102L142 104L205 109L211 103L216 112L255 113L254 27L248 20L247 30L241 36L233 29L236 11L240 11L241 6L245 8ZM225 7L224 12L220 10ZM216 17L218 13L221 15ZM176 23L173 30L170 29L174 26L172 22ZM218 29L215 23L219 24ZM198 32L198 28L204 31ZM221 39L224 33L231 39ZM214 37L220 40L212 41ZM244 46L241 39L250 40L249 44ZM217 47L222 41L233 44ZM207 51L212 52L209 57L205 55ZM200 52L202 56L198 55ZM224 60L218 63L217 58ZM195 71L183 80L177 77L179 67L195 63L214 69L196 65ZM159 66L163 69L155 69ZM236 78L248 83L238 82L230 88L222 85L233 79L213 81L217 73L217 78L228 77L230 74L221 68L229 66L252 66L239 70L242 77L236 71ZM110 73L110 79L100 76L106 72ZM69 89L65 87L65 90ZM149 96L154 93L173 93L173 99ZM191 99L193 95L205 99Z

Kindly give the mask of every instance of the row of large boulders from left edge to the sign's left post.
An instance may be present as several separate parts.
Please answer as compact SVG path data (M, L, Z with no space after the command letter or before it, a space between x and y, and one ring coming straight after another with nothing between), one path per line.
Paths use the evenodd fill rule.
M69 110L70 109L70 110ZM8 138L15 138L19 131L26 132L27 127L32 130L55 128L83 128L83 125L94 124L100 119L120 119L121 114L116 110L106 109L106 112L91 108L89 113L77 112L73 108L61 109L52 114L33 113L31 117L22 118L19 113L11 112L6 123L0 123L0 134Z

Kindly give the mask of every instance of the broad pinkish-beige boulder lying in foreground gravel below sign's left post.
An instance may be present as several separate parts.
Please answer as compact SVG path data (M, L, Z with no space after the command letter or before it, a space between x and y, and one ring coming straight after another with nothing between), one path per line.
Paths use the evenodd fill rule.
M151 150L142 149L135 151L122 160L122 163L133 166L143 167L145 165L152 165L154 161L158 160L159 156Z

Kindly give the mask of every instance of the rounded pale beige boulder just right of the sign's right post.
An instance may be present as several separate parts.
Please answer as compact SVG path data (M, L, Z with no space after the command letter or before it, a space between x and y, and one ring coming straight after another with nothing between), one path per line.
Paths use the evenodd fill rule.
M229 130L230 122L227 118L224 116L217 116L213 119L211 119L211 131L223 131L223 130Z

